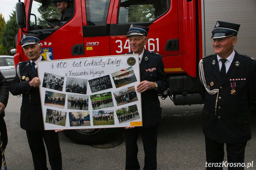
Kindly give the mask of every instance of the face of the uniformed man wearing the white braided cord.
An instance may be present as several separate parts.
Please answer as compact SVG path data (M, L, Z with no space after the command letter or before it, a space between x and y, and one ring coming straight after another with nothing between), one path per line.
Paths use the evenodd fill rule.
M214 38L212 44L214 53L218 54L222 59L228 58L234 50L233 46L236 44L236 40L236 36Z

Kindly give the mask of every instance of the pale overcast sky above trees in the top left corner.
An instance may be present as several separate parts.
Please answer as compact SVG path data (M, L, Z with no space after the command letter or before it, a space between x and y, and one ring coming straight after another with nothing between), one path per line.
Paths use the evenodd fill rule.
M24 2L24 0L21 0ZM9 14L11 14L12 10L15 10L15 4L18 0L1 0L0 5L0 13L4 16L5 22L9 20Z

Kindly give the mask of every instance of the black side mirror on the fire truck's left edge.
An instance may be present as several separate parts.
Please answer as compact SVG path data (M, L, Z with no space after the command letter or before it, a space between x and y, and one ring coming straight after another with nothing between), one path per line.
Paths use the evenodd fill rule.
M16 3L16 20L19 28L26 28L26 12L23 2Z

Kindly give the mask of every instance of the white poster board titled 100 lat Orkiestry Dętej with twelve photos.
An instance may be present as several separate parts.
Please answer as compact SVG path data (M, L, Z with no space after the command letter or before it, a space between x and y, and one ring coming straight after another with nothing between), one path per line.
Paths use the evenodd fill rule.
M37 65L44 129L142 126L138 54Z

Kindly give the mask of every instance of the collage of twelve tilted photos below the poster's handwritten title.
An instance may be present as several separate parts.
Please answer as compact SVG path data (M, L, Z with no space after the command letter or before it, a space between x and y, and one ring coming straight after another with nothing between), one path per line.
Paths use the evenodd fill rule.
M133 67L96 78L66 77L48 72L43 75L40 91L41 94L45 91L42 104L46 107L44 121L47 124L62 126L59 129L121 127L141 119L134 103L138 101L136 83L139 77Z

